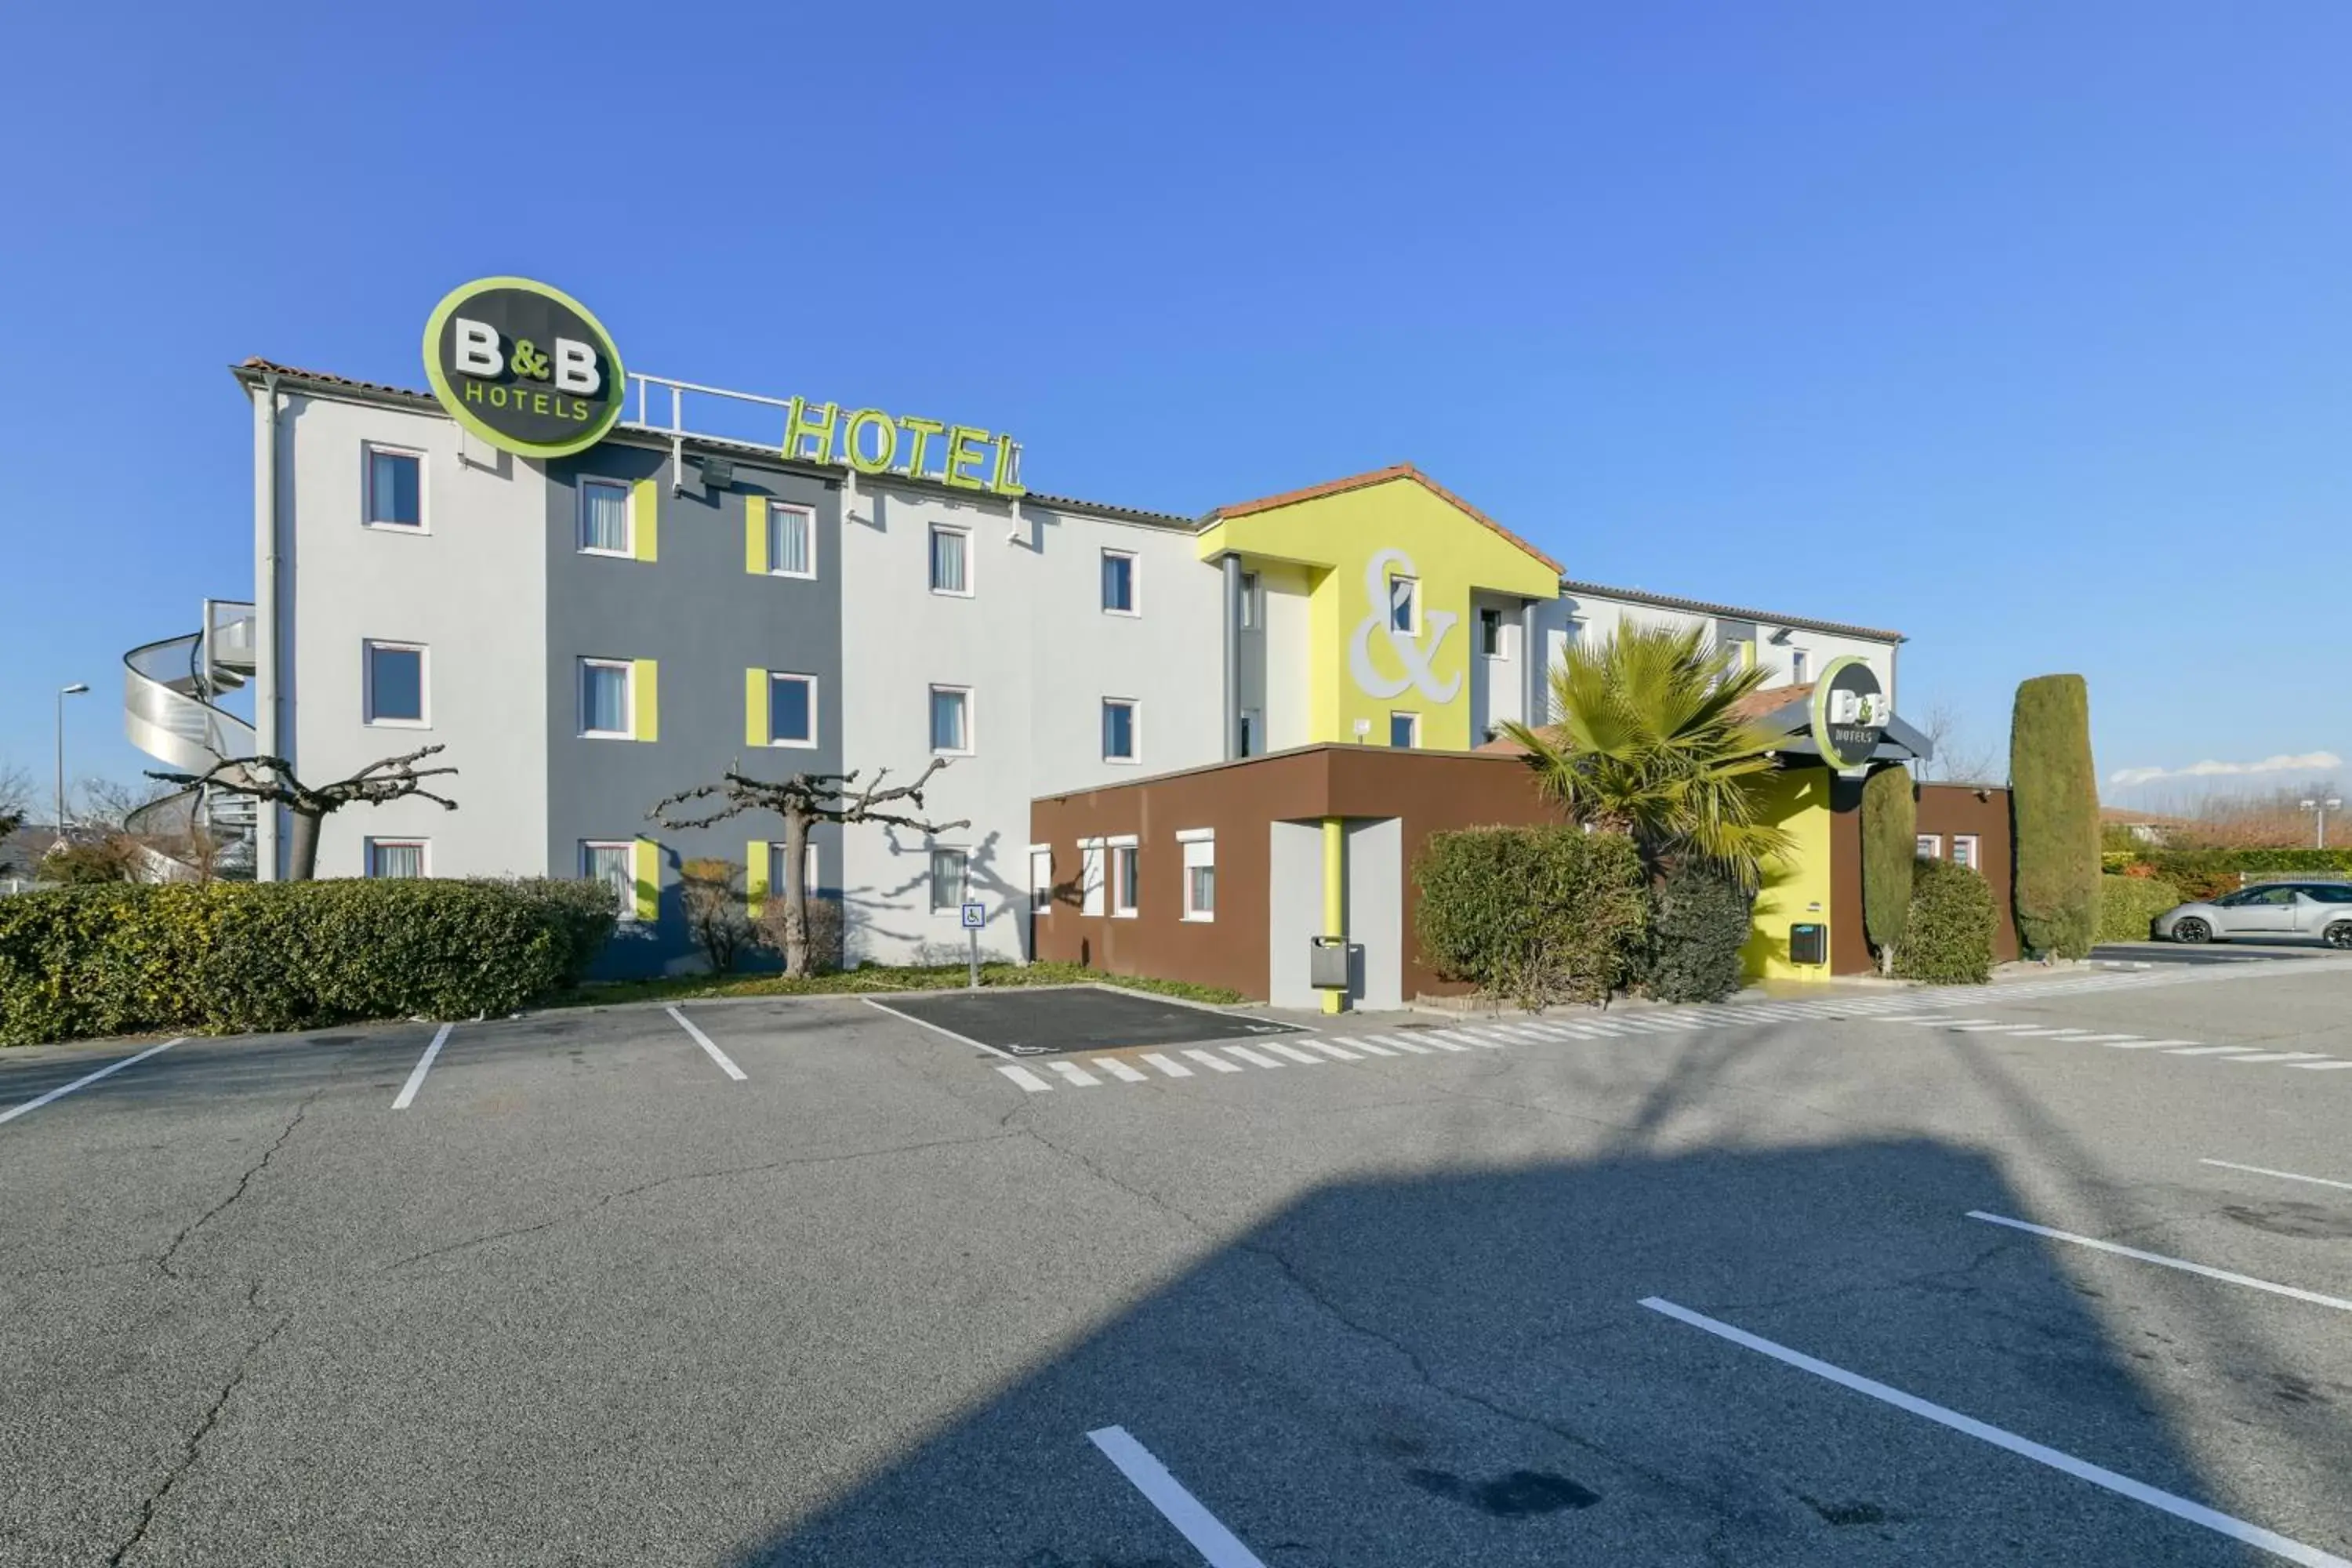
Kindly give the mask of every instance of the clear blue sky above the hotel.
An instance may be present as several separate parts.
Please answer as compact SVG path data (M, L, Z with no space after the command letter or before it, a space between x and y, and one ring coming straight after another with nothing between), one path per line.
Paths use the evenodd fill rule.
M2110 776L2352 755L2352 9L1162 9L21 14L0 764L87 679L136 773L120 654L252 590L226 364L421 386L485 273L1037 489L1414 461L1573 576L1910 632L1978 748L2079 670Z

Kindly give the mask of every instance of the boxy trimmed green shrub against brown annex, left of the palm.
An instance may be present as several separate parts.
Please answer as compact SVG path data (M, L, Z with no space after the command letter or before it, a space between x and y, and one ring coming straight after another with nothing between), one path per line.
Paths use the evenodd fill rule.
M1621 832L1439 832L1414 884L1423 961L1522 1006L1609 997L1632 973L1649 926L1642 858Z

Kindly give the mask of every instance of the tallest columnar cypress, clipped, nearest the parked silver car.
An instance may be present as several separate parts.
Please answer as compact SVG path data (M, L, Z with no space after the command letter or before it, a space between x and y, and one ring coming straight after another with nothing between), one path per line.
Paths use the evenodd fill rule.
M2009 719L2009 820L2025 950L2089 954L2098 938L2098 771L2091 691L2079 675L2018 684Z

